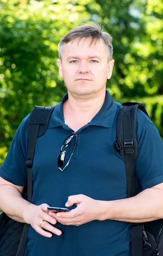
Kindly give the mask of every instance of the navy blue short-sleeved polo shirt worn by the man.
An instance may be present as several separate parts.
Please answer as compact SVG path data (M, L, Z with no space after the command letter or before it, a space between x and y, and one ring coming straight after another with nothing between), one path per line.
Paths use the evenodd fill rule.
M84 194L96 200L117 200L127 197L124 159L115 152L116 119L120 104L106 90L100 111L80 128L77 144L67 168L61 172L57 165L59 151L65 139L74 131L63 116L63 102L55 106L46 133L37 139L33 166L33 204L47 203L65 207L70 195ZM0 176L18 186L27 184L27 116L17 129ZM163 182L163 143L157 128L140 110L137 114L136 160L137 189L150 188ZM67 163L75 137L65 148ZM76 207L76 206L74 206ZM31 226L25 256L129 256L131 225L124 221L91 221L81 226L55 225L62 236L46 238Z

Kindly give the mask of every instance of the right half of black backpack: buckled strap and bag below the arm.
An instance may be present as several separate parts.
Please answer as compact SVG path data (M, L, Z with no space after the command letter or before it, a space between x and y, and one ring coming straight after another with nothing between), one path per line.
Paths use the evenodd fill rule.
M115 150L125 160L128 197L135 196L135 159L138 155L136 140L136 113L141 109L148 117L145 106L137 102L121 105L117 119L117 135L113 143ZM145 223L132 223L132 256L163 255L163 219Z

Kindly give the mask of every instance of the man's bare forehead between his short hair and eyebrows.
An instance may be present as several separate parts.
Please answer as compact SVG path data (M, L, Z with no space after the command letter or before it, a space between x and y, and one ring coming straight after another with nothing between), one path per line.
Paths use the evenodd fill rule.
M104 41L100 38L100 40L95 40L92 42L92 38L76 38L73 41L64 44L63 49L63 57L68 58L71 55L106 55L107 46L104 44Z

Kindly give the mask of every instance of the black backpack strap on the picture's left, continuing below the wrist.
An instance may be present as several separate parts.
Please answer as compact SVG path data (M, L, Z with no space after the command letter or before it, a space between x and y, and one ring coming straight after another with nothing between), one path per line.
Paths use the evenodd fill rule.
M41 137L45 134L48 128L48 122L54 106L51 107L39 107L35 106L31 111L28 119L28 158L26 160L26 166L28 168L28 201L32 201L32 167L34 162L34 150L36 146L37 137ZM39 132L39 125L44 125L43 130ZM29 224L24 224L22 236L20 239L19 247L16 256L23 256L25 251L26 239L28 234Z

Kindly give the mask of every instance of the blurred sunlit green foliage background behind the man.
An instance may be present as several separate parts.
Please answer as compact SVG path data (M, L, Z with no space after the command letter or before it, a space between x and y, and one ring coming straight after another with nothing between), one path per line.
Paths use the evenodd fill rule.
M34 105L66 93L57 45L91 20L113 36L107 89L118 102L144 103L163 139L162 0L0 0L0 164Z

